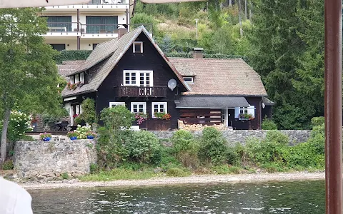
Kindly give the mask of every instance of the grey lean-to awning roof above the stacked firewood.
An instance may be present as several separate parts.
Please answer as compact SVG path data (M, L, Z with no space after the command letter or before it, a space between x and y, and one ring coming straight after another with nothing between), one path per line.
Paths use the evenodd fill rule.
M175 104L177 108L249 107L243 96L182 96Z

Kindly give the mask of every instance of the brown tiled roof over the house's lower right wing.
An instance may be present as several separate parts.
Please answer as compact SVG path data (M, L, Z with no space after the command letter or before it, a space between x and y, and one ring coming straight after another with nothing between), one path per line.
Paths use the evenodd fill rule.
M261 76L242 58L169 58L182 76L194 77L184 95L267 96Z

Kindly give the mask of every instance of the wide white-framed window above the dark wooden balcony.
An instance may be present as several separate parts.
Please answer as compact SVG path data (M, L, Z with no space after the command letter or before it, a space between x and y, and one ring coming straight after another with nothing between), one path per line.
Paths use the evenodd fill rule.
M123 74L124 86L154 86L153 71L124 70Z

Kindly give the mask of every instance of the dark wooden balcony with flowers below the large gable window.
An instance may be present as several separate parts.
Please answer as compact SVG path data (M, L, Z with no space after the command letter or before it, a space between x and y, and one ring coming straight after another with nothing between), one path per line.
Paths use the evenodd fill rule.
M115 87L116 96L119 97L166 97L167 87L141 87L141 86L118 86Z

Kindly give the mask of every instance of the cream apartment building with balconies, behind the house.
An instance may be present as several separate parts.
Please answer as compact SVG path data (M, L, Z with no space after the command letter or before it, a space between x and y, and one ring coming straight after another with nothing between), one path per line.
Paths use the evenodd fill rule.
M97 44L118 37L118 29L129 30L130 0L91 0L88 4L48 6L49 31L46 44L53 49L92 50ZM134 28L134 26L132 26Z

